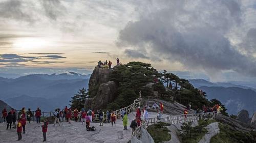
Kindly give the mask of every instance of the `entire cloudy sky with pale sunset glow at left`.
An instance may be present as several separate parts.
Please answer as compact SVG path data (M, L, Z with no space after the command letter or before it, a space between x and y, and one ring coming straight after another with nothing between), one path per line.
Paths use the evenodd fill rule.
M0 75L151 63L210 81L255 81L256 1L0 1Z

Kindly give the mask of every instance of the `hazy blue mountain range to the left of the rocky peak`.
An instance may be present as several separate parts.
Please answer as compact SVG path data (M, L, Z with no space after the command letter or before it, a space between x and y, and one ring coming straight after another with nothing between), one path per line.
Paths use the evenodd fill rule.
M0 99L10 106L51 111L69 104L81 88L88 88L90 74L30 74L15 79L0 77Z

